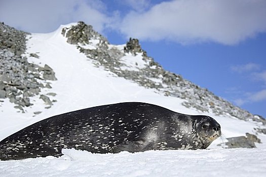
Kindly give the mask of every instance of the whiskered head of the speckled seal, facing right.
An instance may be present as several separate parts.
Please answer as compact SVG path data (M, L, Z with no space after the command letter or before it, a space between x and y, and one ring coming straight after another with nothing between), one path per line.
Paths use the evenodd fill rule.
M196 116L194 129L197 138L207 148L214 140L221 136L221 126L216 120L209 116Z

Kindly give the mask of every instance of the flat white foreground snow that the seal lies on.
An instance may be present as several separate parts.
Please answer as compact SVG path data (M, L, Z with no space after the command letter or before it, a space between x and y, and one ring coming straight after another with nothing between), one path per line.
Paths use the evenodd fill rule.
M2 176L261 176L265 149L209 149L92 154L0 162ZM263 176L263 175L262 175Z

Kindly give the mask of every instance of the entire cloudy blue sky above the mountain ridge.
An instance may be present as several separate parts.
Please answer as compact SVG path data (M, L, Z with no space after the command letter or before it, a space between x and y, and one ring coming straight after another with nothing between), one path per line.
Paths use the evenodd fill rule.
M165 69L266 117L264 0L1 0L0 21L28 32L84 21L114 44L138 38Z

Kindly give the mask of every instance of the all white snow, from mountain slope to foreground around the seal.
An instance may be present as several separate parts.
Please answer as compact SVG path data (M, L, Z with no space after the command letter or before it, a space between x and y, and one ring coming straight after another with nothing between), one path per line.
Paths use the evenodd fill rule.
M26 113L17 112L8 100L0 102L0 140L50 116L92 106L138 101L160 105L185 114L203 114L181 105L181 99L165 97L155 90L145 89L109 71L96 68L92 62L61 35L61 26L48 34L32 34L27 43L29 62L48 64L56 73L52 89L42 94L56 93L57 100L50 109L36 96ZM95 47L88 46L88 49ZM113 46L112 46L113 47ZM37 53L39 59L29 57ZM136 56L138 67L143 63ZM134 57L127 55L123 62L134 65ZM35 115L34 112L42 111ZM206 114L206 113L204 113ZM246 122L226 116L207 114L216 119L226 137L255 134L260 123ZM86 151L63 151L60 158L46 157L0 161L0 176L263 176L266 175L266 136L258 135L262 144L254 149L222 149L215 140L207 150L147 151L141 153L92 154Z

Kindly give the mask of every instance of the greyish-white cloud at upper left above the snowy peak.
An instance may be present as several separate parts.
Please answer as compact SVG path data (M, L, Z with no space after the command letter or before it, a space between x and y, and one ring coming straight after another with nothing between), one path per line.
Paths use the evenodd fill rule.
M60 24L85 21L101 32L112 20L105 9L92 0L2 0L0 21L28 32L50 32Z

